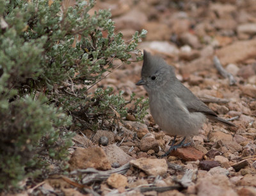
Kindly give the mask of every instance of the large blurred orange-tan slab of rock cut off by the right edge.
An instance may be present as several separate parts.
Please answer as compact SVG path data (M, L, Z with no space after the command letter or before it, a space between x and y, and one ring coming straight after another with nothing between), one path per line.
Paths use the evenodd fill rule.
M256 40L236 41L216 51L221 64L241 63L256 55Z

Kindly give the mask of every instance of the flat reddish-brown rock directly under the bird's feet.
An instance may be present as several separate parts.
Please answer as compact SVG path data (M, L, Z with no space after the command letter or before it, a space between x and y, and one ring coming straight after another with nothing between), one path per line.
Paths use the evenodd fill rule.
M170 153L172 156L177 156L178 158L186 161L196 161L196 160L202 160L204 153L201 153L195 147L180 147L175 151L172 151Z

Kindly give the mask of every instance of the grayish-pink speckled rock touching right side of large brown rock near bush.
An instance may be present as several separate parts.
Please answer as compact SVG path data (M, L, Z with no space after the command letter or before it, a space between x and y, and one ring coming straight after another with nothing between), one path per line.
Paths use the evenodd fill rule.
M110 144L109 146L102 147L104 149L106 156L108 157L109 163L119 163L124 165L132 160L132 157L127 155L120 147L116 144Z

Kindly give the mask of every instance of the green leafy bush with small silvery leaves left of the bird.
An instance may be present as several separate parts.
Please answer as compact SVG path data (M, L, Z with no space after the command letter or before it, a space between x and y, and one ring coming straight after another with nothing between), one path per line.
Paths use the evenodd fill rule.
M71 116L74 127L96 130L127 112L139 120L147 113L147 100L133 95L88 93L115 59L131 63L147 31L125 42L108 10L88 13L95 1L67 2L0 0L0 189L33 174L42 155L67 158Z

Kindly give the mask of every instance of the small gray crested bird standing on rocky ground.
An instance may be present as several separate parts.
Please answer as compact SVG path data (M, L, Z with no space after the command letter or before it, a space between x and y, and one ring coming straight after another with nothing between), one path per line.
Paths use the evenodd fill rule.
M141 80L136 85L143 85L146 89L154 121L164 132L174 136L172 145L164 156L177 147L188 146L184 144L186 136L198 134L207 118L226 126L236 126L218 117L189 91L175 77L173 67L161 57L151 56L146 50L143 53ZM184 136L184 139L174 146L177 135Z

